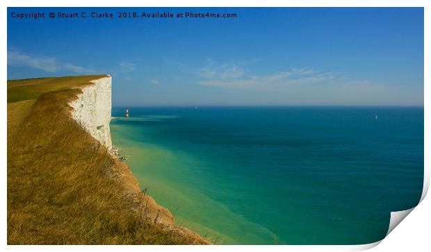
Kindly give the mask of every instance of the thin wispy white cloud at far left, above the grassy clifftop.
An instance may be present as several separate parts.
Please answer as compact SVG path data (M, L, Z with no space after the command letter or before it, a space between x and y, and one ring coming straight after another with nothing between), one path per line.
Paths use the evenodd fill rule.
M8 65L14 67L32 67L45 72L71 71L77 74L95 72L86 67L60 62L54 57L35 56L12 49L8 49Z

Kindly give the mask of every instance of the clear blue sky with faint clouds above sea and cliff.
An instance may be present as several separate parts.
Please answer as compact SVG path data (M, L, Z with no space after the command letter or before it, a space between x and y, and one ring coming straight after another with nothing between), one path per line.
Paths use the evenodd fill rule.
M236 19L13 19L11 12ZM423 8L8 8L8 79L113 76L113 106L423 105Z

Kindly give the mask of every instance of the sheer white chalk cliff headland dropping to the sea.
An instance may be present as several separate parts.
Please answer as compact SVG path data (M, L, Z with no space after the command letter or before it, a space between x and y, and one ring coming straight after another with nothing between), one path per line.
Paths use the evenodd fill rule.
M111 76L91 82L94 85L82 87L78 99L69 103L74 109L72 118L111 151Z

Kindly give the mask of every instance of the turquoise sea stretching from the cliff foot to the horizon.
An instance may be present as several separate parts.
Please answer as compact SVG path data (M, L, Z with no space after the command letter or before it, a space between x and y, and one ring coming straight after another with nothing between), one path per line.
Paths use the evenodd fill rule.
M217 244L366 244L423 187L423 107L113 108L113 144Z

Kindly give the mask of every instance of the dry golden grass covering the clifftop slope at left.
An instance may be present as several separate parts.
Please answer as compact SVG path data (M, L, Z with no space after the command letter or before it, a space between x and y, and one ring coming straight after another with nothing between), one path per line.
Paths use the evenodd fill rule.
M208 244L157 221L129 167L70 117L76 87L100 77L8 81L8 244Z

